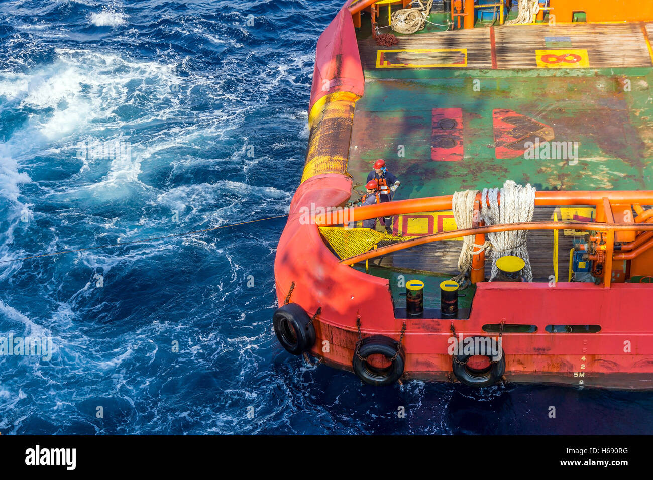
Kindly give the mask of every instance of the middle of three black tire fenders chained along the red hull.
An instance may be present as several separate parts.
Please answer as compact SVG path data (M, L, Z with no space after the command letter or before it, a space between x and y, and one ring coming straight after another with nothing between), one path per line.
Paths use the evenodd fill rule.
M384 355L387 359L391 359L394 357L398 348L400 349L399 355L397 355L396 359L392 360L392 364L388 368L375 368L365 360L358 358L358 355L366 359L370 355L380 354ZM369 385L375 385L377 387L390 385L404 374L404 352L399 347L399 342L392 340L392 338L383 335L364 338L360 343L358 355L354 353L351 366L358 378Z

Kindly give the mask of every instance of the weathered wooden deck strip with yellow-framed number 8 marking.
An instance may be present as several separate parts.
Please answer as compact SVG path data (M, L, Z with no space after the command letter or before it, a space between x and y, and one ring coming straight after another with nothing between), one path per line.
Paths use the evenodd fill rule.
M645 35L647 33L648 35ZM398 37L391 48L358 40L366 72L650 67L653 24L504 25Z

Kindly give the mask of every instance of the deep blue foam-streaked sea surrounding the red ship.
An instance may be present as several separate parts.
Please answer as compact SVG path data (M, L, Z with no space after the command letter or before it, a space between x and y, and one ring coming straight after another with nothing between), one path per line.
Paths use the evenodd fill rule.
M286 213L342 2L0 1L0 261ZM0 337L52 351L0 356L0 433L653 433L651 393L304 364L272 330L284 224L1 263Z

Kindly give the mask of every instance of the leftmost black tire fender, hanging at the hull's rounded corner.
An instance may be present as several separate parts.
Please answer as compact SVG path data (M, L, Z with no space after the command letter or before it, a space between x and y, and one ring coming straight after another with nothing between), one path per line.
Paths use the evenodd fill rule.
M315 345L315 327L308 313L296 303L278 308L272 317L279 344L293 355L302 355Z

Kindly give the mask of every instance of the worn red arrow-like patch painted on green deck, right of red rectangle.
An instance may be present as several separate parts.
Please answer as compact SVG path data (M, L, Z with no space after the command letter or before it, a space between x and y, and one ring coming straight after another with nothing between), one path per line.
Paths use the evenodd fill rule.
M494 152L497 158L517 158L526 152L526 142L553 140L553 129L515 110L492 110Z

